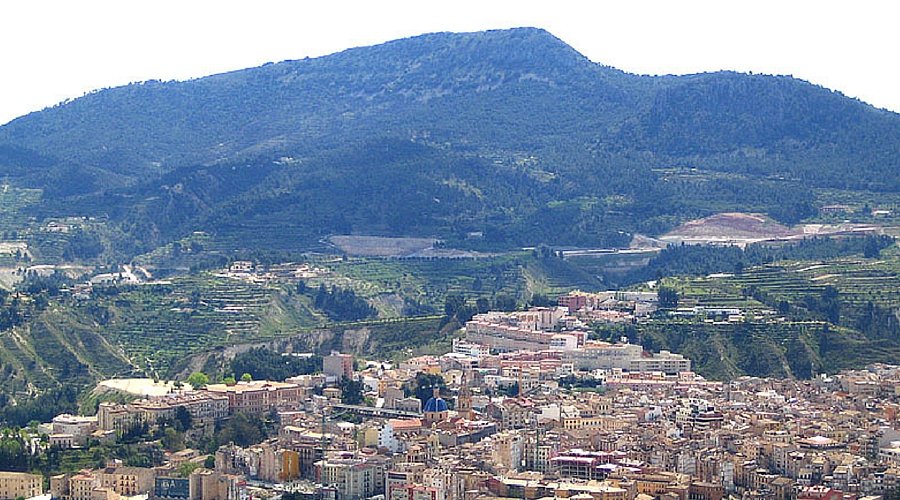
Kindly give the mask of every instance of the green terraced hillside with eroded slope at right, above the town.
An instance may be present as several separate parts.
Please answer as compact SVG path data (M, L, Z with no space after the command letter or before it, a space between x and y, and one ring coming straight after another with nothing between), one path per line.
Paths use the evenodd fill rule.
M739 275L667 278L680 307L738 307L737 323L696 318L658 319L639 326L642 342L690 357L715 378L740 374L809 377L872 362L900 359L900 255L782 262ZM828 321L817 304L832 293L839 302ZM874 309L873 309L874 308ZM873 310L875 311L873 313ZM866 315L881 315L880 329Z

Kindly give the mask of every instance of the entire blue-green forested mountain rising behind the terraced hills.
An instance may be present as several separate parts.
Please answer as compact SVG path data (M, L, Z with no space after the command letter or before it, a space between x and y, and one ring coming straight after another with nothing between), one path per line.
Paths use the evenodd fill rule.
M197 230L226 250L625 245L721 211L793 223L815 188L896 192L898 158L900 115L838 92L628 74L534 28L104 89L0 127L0 173L43 193L17 217L101 216L123 256Z

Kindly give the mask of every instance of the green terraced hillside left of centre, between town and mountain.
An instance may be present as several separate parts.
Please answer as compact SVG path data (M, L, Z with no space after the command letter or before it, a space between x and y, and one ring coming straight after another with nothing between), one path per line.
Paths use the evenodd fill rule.
M281 342L301 351L385 357L411 347L437 352L449 348L457 326L441 317L450 296L473 310L516 307L536 293L596 285L561 259L528 252L479 259L315 256L309 263L327 271L302 282L260 283L204 271L143 285L97 286L89 299L65 295L69 280L62 275L30 277L20 285L27 298L6 296L9 314L0 314L6 321L0 325L0 373L7 377L0 394L18 399L112 376L170 378L194 356L241 344ZM317 304L320 287L332 302L332 289L352 293L342 302L345 309L365 304L368 315L376 311L369 304L379 306L378 317L335 317L343 309L324 296ZM214 360L211 373L226 371L225 362Z

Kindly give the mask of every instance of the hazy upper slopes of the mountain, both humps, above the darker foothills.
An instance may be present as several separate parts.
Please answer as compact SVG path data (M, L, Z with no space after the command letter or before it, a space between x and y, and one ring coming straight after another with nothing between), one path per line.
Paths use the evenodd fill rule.
M544 29L521 27L429 33L188 82L107 89L0 127L0 145L14 147L7 156L17 164L55 158L110 173L97 185L372 135L564 162L626 151L743 158L753 148L746 161L776 174L796 170L787 158L799 147L839 151L871 172L893 168L883 158L895 157L897 117L848 101L788 77L627 74ZM882 176L871 178L882 185Z

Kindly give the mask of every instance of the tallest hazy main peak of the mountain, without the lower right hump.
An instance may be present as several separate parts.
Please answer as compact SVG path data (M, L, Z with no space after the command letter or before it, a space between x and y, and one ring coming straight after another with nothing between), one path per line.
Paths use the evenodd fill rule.
M623 77L540 30L440 33L188 82L106 89L14 120L0 137L65 161L143 173L291 150L310 139L334 144L375 127L406 135L419 127L456 131L474 118L494 121L485 124L492 132L511 120L540 125L511 99L549 111L558 103L547 99L577 97L583 111L605 120L613 107L621 114L633 105L616 84ZM498 109L487 106L497 100Z

